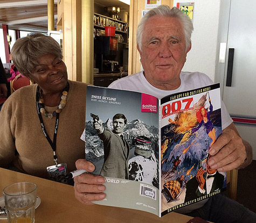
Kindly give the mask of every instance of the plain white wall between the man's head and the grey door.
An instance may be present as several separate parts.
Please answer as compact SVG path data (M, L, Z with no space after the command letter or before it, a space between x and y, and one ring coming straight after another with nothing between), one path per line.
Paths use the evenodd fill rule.
M200 71L215 81L220 0L174 0L194 2L192 48L183 71Z

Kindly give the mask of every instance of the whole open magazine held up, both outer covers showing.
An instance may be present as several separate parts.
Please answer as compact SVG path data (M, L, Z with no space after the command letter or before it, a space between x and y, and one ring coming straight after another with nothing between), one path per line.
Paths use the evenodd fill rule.
M226 173L207 166L222 133L220 104L219 84L162 99L88 86L86 160L106 186L94 203L162 217L224 191Z

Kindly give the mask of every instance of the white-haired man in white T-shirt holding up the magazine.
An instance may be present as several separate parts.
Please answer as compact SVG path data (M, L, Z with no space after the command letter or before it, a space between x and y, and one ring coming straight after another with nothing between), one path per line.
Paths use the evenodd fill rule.
M191 49L192 30L189 17L177 8L161 5L150 10L137 29L137 49L144 71L122 78L109 87L140 91L161 98L212 84L205 74L181 71L186 54ZM222 127L222 135L209 150L209 166L218 171L246 167L252 161L252 148L240 138L223 103ZM88 161L78 160L76 164L78 169L94 170L93 164ZM103 177L83 174L74 181L75 197L80 202L89 205L93 200L105 198ZM178 211L213 222L256 222L256 214L222 195Z

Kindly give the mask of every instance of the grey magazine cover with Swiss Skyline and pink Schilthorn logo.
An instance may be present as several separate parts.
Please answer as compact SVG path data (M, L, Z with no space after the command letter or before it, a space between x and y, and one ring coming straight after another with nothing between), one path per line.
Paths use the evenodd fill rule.
M99 123L103 132L96 130ZM86 160L106 186L106 198L94 203L160 214L158 133L157 98L87 87Z

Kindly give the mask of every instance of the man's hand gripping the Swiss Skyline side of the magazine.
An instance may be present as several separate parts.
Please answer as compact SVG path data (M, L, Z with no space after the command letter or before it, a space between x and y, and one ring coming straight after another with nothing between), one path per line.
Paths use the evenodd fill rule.
M77 160L75 162L77 169L85 169L88 172L94 171L94 165L86 160ZM102 200L105 198L105 186L102 185L105 182L104 177L93 174L81 174L74 177L74 193L75 198L82 204L93 205L94 200Z

